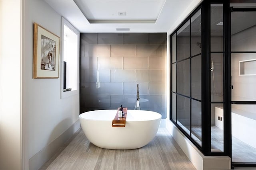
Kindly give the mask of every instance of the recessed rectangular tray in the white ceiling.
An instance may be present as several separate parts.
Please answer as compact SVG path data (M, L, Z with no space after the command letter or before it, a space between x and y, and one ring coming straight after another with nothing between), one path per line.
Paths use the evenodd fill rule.
M73 1L89 23L156 23L168 0Z

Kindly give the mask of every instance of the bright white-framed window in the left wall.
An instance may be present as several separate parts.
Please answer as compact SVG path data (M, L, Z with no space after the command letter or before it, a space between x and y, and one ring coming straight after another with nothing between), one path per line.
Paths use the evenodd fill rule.
M61 98L79 94L79 31L62 18Z

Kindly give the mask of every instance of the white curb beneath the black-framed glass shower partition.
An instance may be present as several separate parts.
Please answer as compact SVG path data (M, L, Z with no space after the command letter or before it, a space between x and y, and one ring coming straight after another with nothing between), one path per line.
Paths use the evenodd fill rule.
M166 120L166 129L197 170L231 169L229 156L204 156L170 120Z

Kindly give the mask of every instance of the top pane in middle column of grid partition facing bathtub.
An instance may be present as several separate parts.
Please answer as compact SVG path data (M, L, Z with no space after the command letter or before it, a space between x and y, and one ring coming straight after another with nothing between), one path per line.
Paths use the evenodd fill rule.
M177 31L177 61L190 57L190 26L187 21Z

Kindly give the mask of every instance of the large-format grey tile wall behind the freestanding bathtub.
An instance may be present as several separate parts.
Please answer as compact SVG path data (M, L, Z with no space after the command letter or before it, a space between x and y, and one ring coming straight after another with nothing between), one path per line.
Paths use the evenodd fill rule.
M166 118L166 33L81 33L80 113L140 107Z

